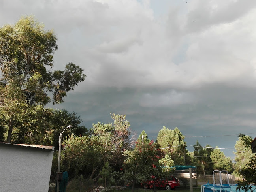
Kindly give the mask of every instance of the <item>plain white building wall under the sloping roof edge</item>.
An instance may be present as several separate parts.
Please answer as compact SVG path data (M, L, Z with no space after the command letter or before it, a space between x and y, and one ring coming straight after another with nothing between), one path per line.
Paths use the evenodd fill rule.
M0 192L48 192L53 150L0 143Z

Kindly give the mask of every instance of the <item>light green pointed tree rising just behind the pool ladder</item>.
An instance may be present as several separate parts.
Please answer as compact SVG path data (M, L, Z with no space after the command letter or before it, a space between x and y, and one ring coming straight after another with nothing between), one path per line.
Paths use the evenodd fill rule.
M215 170L226 170L229 173L233 172L230 157L226 157L224 155L224 152L218 149L218 146L211 152L211 160L213 162L213 168Z

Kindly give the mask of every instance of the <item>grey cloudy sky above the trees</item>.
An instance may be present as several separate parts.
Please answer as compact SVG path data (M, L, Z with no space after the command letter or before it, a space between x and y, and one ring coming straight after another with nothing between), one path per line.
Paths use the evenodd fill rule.
M87 128L126 114L137 136L154 140L177 127L187 145L256 137L256 1L0 1L0 26L27 15L55 32L53 70L73 62L87 75L47 107L75 112Z

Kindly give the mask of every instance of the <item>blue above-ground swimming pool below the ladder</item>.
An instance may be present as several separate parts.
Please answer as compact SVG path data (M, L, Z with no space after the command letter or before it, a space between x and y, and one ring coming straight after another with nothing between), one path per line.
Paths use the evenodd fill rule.
M227 186L226 184L222 185L222 189L221 192L244 192L243 190L239 190L236 189L237 188L237 184L230 184L230 187ZM214 186L215 192L220 192L220 186ZM256 192L255 190L255 186L252 185L252 190L254 190L254 192ZM213 184L205 184L202 185L202 190L201 192L213 192Z

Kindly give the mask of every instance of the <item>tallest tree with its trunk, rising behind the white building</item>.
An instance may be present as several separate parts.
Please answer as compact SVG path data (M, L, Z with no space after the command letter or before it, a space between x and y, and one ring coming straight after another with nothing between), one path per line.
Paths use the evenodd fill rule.
M14 26L0 28L0 113L8 122L8 143L18 113L26 111L28 105L49 103L48 92L53 94L54 104L64 102L66 93L84 81L83 70L73 63L63 71L51 71L57 49L53 31L45 31L33 17L21 17Z

